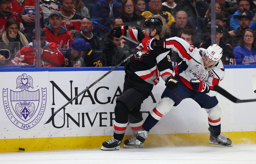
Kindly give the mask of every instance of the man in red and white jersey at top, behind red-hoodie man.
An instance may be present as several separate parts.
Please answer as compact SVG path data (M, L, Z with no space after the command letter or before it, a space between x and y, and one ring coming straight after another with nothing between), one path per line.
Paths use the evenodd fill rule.
M63 17L61 25L65 26L69 30L69 32L73 35L80 30L81 20L83 19L83 17L67 9L67 8L73 9L72 0L61 0L60 3L65 7L60 6L61 9L55 9L55 10L60 11Z

